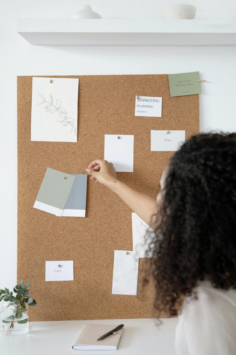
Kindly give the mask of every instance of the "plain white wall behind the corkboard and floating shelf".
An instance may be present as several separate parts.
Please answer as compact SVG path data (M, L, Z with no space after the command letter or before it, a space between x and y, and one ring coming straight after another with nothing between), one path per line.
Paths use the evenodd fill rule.
M163 18L160 0L91 0L104 18ZM84 1L8 0L0 9L0 288L16 284L17 258L17 75L162 74L200 71L200 130L236 130L236 46L73 47L33 46L16 31L17 18L68 18ZM196 0L202 11L228 11L235 0ZM223 3L223 5L222 5ZM212 8L214 6L214 8ZM217 13L209 13L209 17ZM223 15L222 15L223 16ZM96 154L96 152L94 152ZM95 158L95 155L94 155Z

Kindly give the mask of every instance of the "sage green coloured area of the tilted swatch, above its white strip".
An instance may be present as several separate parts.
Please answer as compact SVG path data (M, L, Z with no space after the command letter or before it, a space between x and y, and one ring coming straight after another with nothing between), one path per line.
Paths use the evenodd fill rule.
M73 175L47 168L36 201L64 209L74 180Z

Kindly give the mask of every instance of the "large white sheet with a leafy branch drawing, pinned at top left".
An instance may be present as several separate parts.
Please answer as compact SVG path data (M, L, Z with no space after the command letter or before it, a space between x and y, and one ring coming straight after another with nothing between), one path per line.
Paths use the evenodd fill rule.
M31 141L77 142L78 88L79 79L33 77Z

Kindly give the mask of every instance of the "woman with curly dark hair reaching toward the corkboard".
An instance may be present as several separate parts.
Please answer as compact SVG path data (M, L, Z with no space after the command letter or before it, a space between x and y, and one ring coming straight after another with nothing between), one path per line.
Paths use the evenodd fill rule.
M156 231L154 305L172 316L183 307L177 355L236 354L236 133L186 141L163 171L156 199L119 181L105 160L86 171Z

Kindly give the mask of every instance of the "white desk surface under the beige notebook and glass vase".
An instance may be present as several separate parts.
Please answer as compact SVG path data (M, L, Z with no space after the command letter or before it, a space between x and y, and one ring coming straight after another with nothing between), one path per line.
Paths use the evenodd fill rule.
M174 355L174 335L178 318L162 318L157 327L155 319L119 319L95 321L30 322L30 332L15 337L0 335L0 352L7 355L114 355L114 350L72 350L85 323L124 324L118 347L119 355Z

